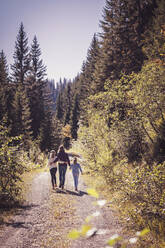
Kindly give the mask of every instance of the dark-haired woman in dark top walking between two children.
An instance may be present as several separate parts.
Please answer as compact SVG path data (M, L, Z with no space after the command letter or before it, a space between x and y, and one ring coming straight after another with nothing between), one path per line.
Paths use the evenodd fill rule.
M54 160L55 163L57 161L58 161L58 168L59 168L59 181L60 181L59 187L64 189L67 164L70 166L70 160L63 146L60 146L59 151L57 153L57 158Z

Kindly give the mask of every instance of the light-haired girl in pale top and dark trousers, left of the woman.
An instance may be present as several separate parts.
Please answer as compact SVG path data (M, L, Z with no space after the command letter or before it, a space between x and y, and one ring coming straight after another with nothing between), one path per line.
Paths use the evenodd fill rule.
M50 152L49 160L48 160L48 167L50 170L50 175L51 175L51 182L52 182L52 188L54 189L57 187L56 183L56 172L57 172L57 162L53 162L56 158L56 152L52 150Z

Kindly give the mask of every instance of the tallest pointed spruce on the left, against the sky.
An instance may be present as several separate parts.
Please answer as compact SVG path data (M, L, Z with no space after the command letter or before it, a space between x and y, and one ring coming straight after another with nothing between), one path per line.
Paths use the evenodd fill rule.
M28 38L21 23L15 42L14 63L11 66L14 89L12 103L12 130L13 136L22 135L25 149L29 149L31 142L31 117L29 98L25 81L30 70L30 56Z

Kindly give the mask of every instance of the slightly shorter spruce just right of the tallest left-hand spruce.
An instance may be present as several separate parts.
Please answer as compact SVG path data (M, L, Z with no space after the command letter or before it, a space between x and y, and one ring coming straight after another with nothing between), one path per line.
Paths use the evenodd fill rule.
M46 80L46 67L43 65L41 49L36 36L33 39L30 51L30 72L25 80L26 91L30 101L30 112L32 119L32 130L34 139L38 137L41 123L44 119L44 90Z

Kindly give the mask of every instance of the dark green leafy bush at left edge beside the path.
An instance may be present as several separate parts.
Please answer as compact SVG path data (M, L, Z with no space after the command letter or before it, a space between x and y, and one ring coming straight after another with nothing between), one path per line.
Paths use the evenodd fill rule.
M24 172L24 165L18 159L21 153L20 145L14 145L15 141L21 141L21 137L9 137L8 130L0 125L0 198L2 200L14 200L19 192L18 181Z

